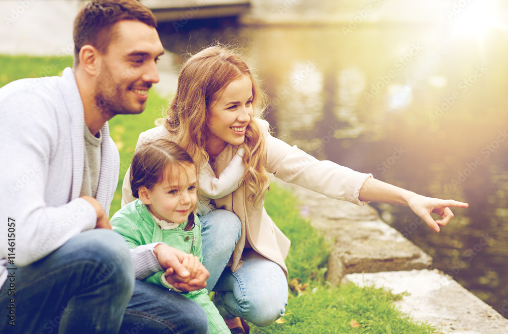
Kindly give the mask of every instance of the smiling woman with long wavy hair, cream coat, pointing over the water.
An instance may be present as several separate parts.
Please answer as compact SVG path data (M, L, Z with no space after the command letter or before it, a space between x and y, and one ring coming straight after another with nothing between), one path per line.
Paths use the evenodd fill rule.
M230 266L218 280L217 273L224 267L213 259L223 248L223 239L230 240L234 231L223 230L211 238L203 232L203 264L210 271L207 289L216 291L214 301L225 319L240 317L267 326L284 314L288 298L284 259L290 241L263 208L269 173L359 205L369 201L407 205L436 232L453 218L450 206L467 207L454 200L417 195L330 161L318 161L272 137L268 123L260 118L266 101L241 57L212 46L186 60L167 117L138 140L139 144L159 137L171 139L198 164L198 215L204 229L234 225L231 219L226 223L221 220L224 209L240 219L241 235ZM132 200L126 177L123 202ZM442 219L434 221L431 212Z

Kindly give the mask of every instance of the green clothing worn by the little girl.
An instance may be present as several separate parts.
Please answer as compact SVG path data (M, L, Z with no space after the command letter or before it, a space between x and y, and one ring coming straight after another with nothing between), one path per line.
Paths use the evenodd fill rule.
M192 253L200 261L203 261L201 253L201 223L196 215L194 216L194 228L190 231L183 230L187 222L180 224L176 229L162 230L153 221L146 205L137 199L118 210L110 222L113 225L113 230L123 235L127 245L132 249L141 245L151 244L152 242L164 242L164 244L180 251ZM167 289L161 281L161 276L164 273L165 271L155 272L155 274L143 281ZM205 309L208 316L210 334L231 333L224 319L219 315L217 308L210 301L206 289L191 291L184 294L184 296L195 300Z

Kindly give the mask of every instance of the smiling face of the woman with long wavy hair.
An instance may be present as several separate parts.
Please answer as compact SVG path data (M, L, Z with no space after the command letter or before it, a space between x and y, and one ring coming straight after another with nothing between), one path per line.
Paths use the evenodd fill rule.
M208 108L208 154L216 156L226 144L240 145L245 140L245 129L254 111L252 109L252 81L246 75L232 81L219 99Z

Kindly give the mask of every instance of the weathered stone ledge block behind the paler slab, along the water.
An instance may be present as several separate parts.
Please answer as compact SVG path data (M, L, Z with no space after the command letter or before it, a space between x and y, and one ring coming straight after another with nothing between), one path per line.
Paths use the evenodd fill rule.
M302 215L331 241L327 274L331 283L340 283L352 272L425 269L432 265L428 254L383 222L373 207L331 199L277 179L272 182L298 196Z

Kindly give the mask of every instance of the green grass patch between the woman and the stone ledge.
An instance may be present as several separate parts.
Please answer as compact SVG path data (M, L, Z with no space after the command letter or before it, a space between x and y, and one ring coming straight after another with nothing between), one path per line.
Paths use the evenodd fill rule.
M277 226L291 239L286 260L291 292L285 315L268 327L252 326L253 334L266 333L435 333L418 325L392 304L400 298L383 289L353 284L332 287L325 280L329 245L300 216L298 199L276 185L266 194L265 208ZM308 284L303 291L295 283ZM352 326L352 321L358 327ZM355 323L353 323L355 325Z

